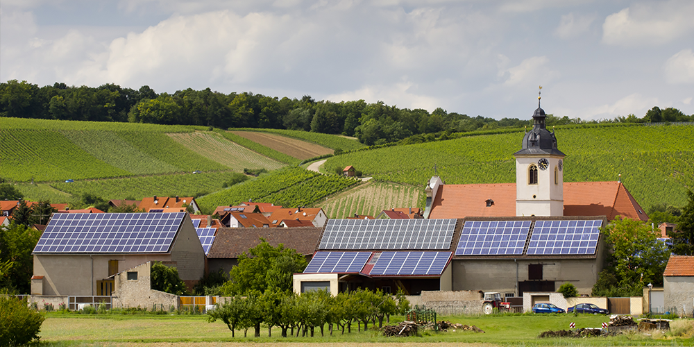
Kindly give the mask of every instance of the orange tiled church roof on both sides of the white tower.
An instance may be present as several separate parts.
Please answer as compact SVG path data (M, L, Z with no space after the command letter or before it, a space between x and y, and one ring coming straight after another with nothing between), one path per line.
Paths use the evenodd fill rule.
M618 215L648 221L641 205L620 182L564 183L564 216L606 216L612 220ZM429 218L511 216L516 216L516 183L441 185Z

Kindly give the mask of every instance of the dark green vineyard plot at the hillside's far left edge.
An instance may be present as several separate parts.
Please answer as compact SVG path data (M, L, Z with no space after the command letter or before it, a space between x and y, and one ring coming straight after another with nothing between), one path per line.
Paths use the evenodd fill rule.
M127 176L51 130L0 128L0 171L8 180L49 181Z

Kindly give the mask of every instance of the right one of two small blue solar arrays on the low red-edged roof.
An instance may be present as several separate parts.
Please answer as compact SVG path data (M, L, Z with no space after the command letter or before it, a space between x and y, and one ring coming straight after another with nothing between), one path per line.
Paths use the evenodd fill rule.
M446 268L450 252L382 252L371 269L375 276L439 276Z

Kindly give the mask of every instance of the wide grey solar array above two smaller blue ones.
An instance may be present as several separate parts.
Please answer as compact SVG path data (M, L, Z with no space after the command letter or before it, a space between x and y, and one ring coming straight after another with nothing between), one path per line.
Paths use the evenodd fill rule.
M448 249L456 219L330 219L321 249Z

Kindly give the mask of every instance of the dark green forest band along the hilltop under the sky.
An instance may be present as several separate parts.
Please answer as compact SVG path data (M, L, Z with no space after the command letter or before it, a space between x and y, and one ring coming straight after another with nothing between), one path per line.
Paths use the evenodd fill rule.
M75 121L129 121L149 124L213 126L216 128L273 128L355 136L367 145L386 144L412 137L408 143L426 142L423 134L462 133L495 128L521 128L530 120L501 120L423 109L396 108L379 101L315 101L311 96L289 99L251 92L223 94L205 90L179 90L158 94L144 85L139 90L115 84L74 87L65 83L38 85L10 80L0 83L0 117ZM528 115L530 118L530 114ZM546 124L646 123L694 121L675 108L654 107L642 118L635 115L584 121L548 115ZM440 135L440 134L439 134ZM439 137L437 135L437 137Z

